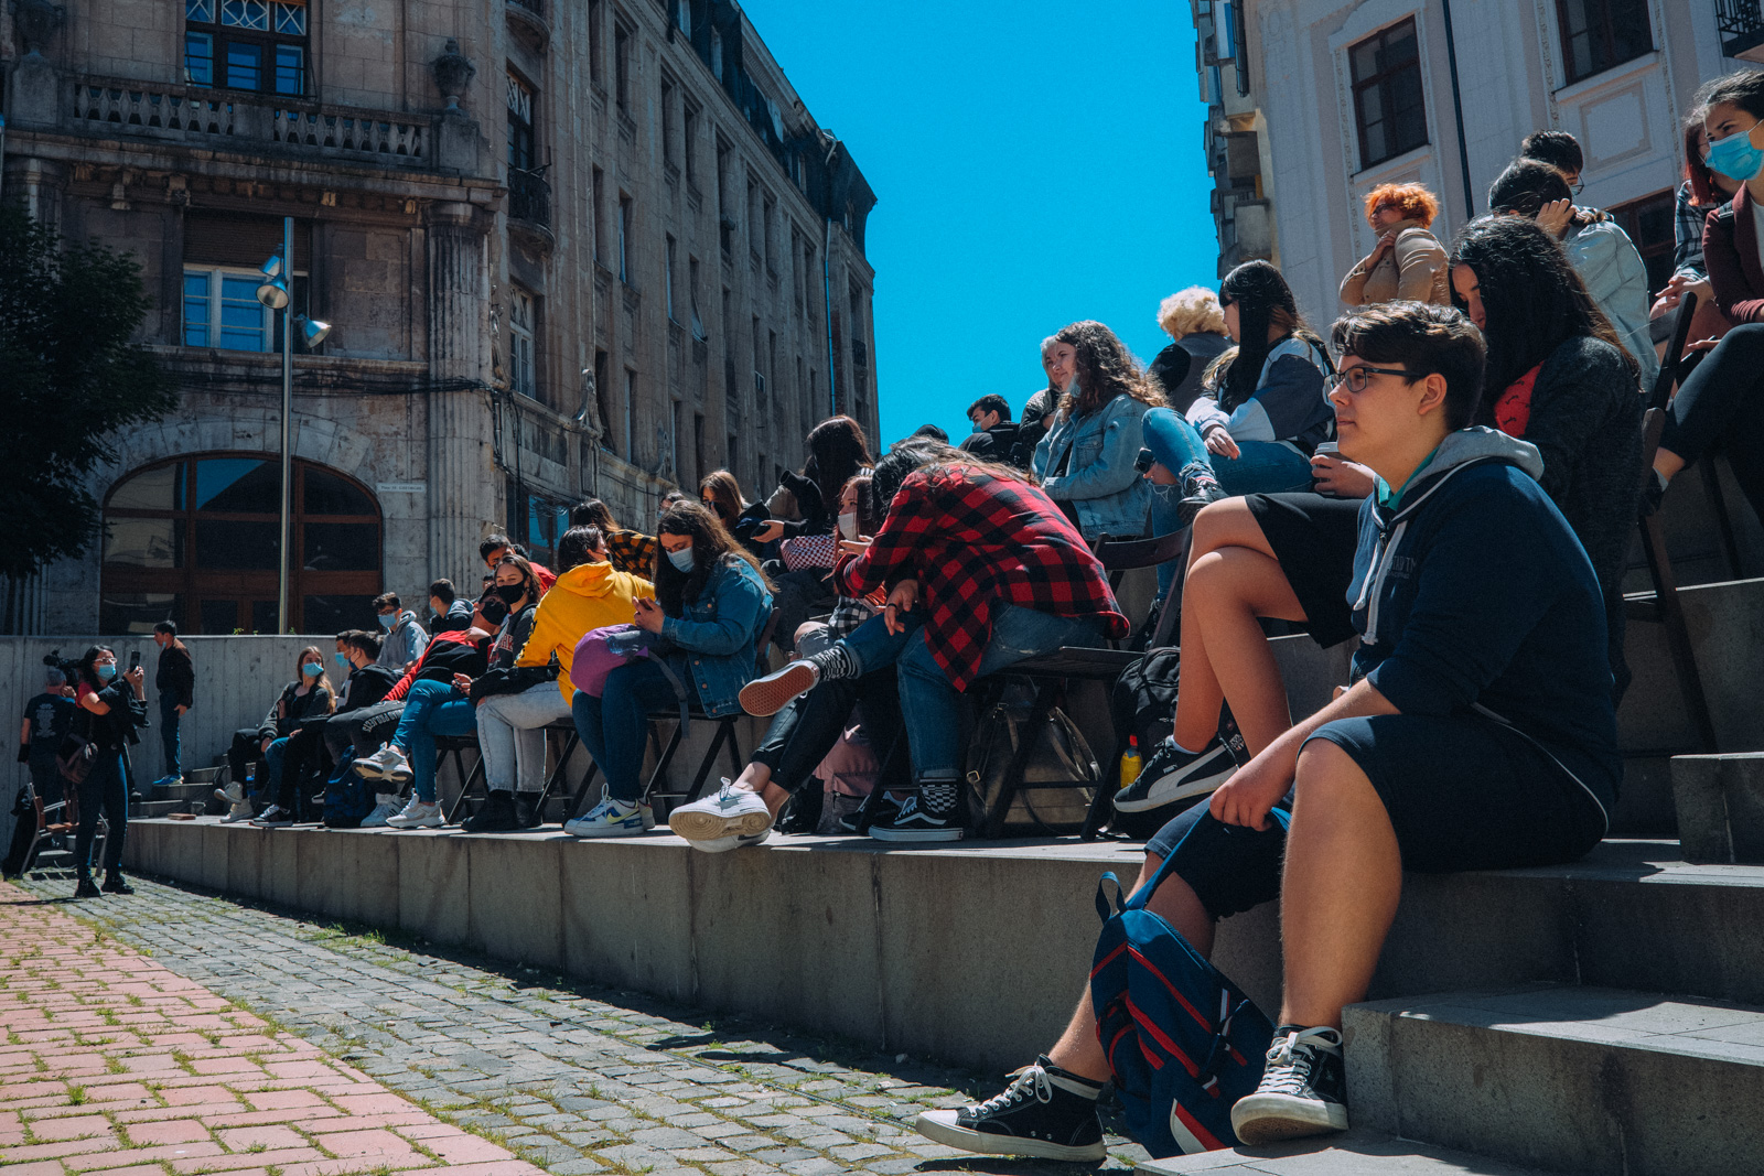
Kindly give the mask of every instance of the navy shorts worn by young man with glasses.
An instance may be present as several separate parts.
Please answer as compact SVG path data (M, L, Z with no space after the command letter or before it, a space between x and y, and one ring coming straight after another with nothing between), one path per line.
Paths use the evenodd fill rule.
M1558 866L1605 836L1609 793L1595 797L1542 748L1492 719L1379 714L1327 723L1312 739L1351 755L1372 781L1408 871ZM1277 897L1284 850L1279 823L1265 832L1226 825L1207 804L1145 846L1148 857L1177 857L1175 873L1214 919Z

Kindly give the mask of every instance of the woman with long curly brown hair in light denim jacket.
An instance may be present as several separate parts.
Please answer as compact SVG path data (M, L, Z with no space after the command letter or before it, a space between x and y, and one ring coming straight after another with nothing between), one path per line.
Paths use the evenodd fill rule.
M1035 446L1041 488L1078 524L1099 534L1145 534L1152 490L1140 480L1145 411L1164 404L1115 331L1085 319L1053 337L1051 383L1067 386L1053 428ZM1076 386L1073 381L1076 379Z

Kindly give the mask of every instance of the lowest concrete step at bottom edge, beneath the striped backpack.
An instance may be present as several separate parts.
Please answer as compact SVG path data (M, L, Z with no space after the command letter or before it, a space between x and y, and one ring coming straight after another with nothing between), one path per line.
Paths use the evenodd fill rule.
M1268 1148L1235 1148L1140 1164L1148 1176L1542 1176L1535 1167L1501 1164L1434 1144L1355 1128L1334 1139L1305 1139Z

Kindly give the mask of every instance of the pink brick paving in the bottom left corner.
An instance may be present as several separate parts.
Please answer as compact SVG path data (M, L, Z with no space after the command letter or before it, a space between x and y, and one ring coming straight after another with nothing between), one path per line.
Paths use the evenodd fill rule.
M0 885L7 1176L538 1176L293 1033Z

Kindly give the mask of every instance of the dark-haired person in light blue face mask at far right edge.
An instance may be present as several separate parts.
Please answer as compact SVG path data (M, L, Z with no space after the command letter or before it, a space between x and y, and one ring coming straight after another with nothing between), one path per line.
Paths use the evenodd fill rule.
M1709 169L1739 182L1702 229L1709 287L1734 328L1720 342L1690 344L1706 354L1672 397L1642 502L1656 510L1672 478L1720 443L1764 518L1764 74L1716 78L1697 97L1706 108Z

